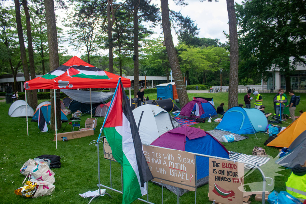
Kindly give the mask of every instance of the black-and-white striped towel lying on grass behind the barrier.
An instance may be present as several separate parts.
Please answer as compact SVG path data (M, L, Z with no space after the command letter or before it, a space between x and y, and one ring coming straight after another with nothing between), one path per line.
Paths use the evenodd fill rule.
M229 154L230 159L237 160L237 161L250 162L250 163L258 165L259 167L264 165L270 160L270 158L268 157L258 157L254 155L242 154L242 153L233 152L233 151L229 151L229 153L230 153ZM244 165L244 169L253 169L253 168L254 166L252 165L247 165L247 164Z

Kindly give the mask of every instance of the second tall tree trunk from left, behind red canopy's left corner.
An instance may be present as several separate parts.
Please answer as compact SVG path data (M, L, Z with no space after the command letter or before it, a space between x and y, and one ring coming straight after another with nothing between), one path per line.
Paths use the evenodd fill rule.
M30 65L30 73L31 79L35 79L35 65L34 65L34 51L32 45L32 32L31 32L31 21L30 21L30 14L29 14L29 7L27 0L23 0L23 8L26 17L26 24L27 24L27 37L28 37L28 53L29 53L29 65ZM32 100L29 105L36 109L37 107L37 90L32 90Z

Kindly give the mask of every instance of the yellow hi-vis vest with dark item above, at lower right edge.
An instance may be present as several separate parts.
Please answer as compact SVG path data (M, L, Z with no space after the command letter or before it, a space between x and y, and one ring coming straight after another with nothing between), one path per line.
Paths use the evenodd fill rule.
M306 199L306 161L304 165L295 165L286 182L287 193L298 198L302 202Z

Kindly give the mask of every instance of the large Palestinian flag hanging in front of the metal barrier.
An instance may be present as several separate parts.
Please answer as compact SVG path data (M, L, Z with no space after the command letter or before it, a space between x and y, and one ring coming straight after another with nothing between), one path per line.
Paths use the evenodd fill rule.
M153 179L129 101L120 81L103 128L114 158L123 168L123 204L147 194L145 183Z

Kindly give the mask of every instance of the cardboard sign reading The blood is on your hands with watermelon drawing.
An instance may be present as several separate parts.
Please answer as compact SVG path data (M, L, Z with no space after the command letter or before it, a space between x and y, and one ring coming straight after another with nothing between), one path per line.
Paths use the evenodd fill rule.
M234 161L209 158L209 200L217 203L242 204L244 164Z

